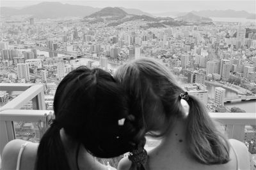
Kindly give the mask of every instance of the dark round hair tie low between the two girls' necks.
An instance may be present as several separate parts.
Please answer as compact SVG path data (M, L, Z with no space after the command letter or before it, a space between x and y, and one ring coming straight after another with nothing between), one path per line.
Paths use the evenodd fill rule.
M136 166L140 166L146 164L148 153L143 147L139 147L138 149L132 150L132 152L129 153L128 159L131 160L131 162Z

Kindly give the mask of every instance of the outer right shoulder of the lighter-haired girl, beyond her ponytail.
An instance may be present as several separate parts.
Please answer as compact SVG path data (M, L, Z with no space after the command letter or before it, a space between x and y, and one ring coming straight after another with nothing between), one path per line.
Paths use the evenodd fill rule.
M240 169L250 169L250 153L247 146L236 139L229 139L230 145L237 155L237 162Z

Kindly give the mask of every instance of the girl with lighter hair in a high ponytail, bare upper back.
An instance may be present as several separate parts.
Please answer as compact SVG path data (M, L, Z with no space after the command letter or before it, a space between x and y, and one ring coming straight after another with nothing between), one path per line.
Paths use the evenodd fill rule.
M148 58L132 60L119 67L114 78L130 98L138 131L136 149L118 169L250 169L246 146L225 138L205 106L162 64ZM188 114L181 101L188 103ZM146 135L162 139L148 154L143 148Z

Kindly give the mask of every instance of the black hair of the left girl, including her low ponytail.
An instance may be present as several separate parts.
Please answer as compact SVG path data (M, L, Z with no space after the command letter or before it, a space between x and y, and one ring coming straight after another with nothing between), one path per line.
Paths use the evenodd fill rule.
M96 157L116 157L131 150L129 124L118 125L118 120L128 115L127 97L102 69L83 66L68 73L56 90L54 114L54 124L38 146L37 170L70 169L60 138L62 127Z

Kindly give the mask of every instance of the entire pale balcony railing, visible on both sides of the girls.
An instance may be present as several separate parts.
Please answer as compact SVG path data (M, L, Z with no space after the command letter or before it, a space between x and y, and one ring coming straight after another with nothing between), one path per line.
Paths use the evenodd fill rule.
M3 91L24 91L15 99L5 104L0 109L0 154L4 145L15 139L15 127L13 122L44 122L45 114L49 115L50 110L45 110L44 85L41 84L17 84L0 83L0 90ZM31 101L33 110L20 110L24 104ZM228 138L243 141L245 125L256 125L256 113L210 113L211 117L225 125Z

